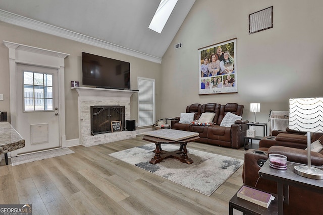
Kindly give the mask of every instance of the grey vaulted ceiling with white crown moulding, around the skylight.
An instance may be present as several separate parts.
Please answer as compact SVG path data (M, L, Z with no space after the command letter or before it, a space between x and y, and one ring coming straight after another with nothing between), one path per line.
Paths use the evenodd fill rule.
M159 2L0 0L0 21L160 62L195 0L179 0L161 34L148 29Z

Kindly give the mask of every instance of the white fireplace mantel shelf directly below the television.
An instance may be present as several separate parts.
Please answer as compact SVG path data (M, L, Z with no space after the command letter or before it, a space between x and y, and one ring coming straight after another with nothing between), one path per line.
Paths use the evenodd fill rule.
M104 96L104 97L131 97L133 93L138 93L138 90L117 90L94 87L71 87L75 89L80 97L86 96Z

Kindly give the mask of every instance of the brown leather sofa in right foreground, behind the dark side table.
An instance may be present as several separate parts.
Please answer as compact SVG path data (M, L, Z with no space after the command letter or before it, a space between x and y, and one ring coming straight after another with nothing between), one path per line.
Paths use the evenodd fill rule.
M318 139L323 142L322 134L313 136L316 138L319 135ZM265 192L277 194L277 183L262 179L258 174L269 154L285 155L290 162L306 165L307 151L291 147L272 146L270 148L259 148L259 150L248 150L245 153L242 172L243 183ZM320 153L311 152L311 165L323 170L323 151ZM322 214L323 204L321 199L322 194L319 192L289 186L289 204L284 203L284 214Z

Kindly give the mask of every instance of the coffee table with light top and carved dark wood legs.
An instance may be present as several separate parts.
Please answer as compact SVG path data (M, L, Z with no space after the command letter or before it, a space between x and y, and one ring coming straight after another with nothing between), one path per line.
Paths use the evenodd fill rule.
M188 142L199 139L199 133L175 129L160 129L144 132L143 134L143 140L154 142L156 145L155 156L149 161L150 164L159 163L166 158L175 158L187 164L193 163L193 160L187 155L186 145ZM167 152L161 149L161 144L180 144L181 146L175 152Z

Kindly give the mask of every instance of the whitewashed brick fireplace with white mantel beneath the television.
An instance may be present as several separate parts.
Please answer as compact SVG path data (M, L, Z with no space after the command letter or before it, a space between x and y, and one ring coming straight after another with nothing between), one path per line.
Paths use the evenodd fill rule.
M91 106L124 106L124 119L130 120L130 97L134 90L72 87L78 96L79 140L89 147L136 137L136 131L118 131L91 135ZM124 127L124 125L123 125Z

